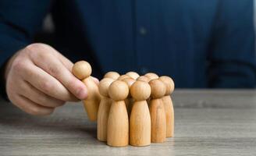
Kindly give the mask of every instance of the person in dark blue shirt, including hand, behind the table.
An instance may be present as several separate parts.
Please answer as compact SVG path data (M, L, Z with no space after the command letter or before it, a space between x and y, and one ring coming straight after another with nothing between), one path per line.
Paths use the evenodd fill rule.
M53 44L34 44L48 13ZM253 0L2 0L0 56L9 100L34 115L87 97L70 72L81 59L98 78L154 72L176 87L252 88Z

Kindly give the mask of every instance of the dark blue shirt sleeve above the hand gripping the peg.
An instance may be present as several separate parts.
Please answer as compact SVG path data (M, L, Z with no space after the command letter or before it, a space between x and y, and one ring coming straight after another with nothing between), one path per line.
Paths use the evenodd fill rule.
M34 34L41 29L41 23L49 12L52 2L50 0L0 1L0 69L4 69L5 62L16 51L31 43ZM5 83L3 79L0 80L0 93L3 94Z

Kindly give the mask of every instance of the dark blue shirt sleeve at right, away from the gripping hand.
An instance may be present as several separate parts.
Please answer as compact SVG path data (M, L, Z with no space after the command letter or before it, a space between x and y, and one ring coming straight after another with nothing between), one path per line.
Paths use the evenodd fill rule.
M255 87L253 12L253 0L219 0L208 55L209 87Z

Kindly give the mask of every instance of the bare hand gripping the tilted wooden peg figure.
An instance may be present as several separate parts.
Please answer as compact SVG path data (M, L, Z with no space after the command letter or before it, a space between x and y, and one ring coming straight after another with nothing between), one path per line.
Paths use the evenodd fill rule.
M28 45L5 68L9 100L31 115L48 115L65 101L86 98L87 87L73 76L72 66L47 44Z

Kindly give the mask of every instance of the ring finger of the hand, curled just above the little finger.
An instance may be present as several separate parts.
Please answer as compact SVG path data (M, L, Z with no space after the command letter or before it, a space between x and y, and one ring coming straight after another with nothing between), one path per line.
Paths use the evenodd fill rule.
M27 97L28 99L30 99L30 101L33 101L34 103L45 107L56 108L64 105L65 103L64 101L44 94L26 81L20 82L20 87L18 91L21 95L23 95L23 97Z

